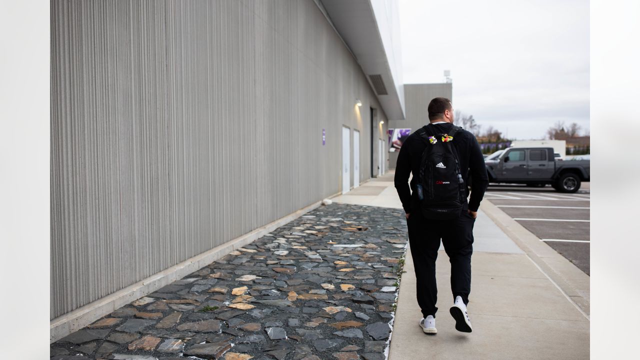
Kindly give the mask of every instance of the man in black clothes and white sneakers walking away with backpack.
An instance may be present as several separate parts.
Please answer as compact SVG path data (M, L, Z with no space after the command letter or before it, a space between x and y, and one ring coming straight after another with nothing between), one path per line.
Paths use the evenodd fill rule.
M471 332L467 315L471 290L473 227L477 210L489 183L476 137L454 126L451 101L436 97L428 106L430 124L414 131L397 158L394 183L406 213L409 243L422 311L420 327L437 332L435 315L436 258L440 239L451 263L454 304L449 312L456 330ZM470 170L471 197L465 182ZM410 174L411 190L408 184Z

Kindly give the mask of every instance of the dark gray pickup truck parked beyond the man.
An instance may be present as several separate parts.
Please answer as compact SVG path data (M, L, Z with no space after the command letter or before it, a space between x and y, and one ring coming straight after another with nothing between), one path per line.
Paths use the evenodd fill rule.
M558 192L575 193L589 181L589 160L556 160L551 147L509 147L484 161L490 183L550 184Z

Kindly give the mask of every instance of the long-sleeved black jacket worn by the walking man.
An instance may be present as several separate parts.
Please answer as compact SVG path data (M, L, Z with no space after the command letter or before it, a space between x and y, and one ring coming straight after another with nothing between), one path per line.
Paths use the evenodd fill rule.
M435 127L435 129L431 130L431 133L449 133L452 124L447 122L443 124L429 124L428 126ZM471 197L468 204L467 199L465 199L463 207L471 211L477 211L484 196L484 190L486 190L489 184L489 177L486 174L482 150L480 149L480 145L478 145L476 136L464 129L458 130L458 133L454 135L452 143L456 148L456 152L458 152L460 170L462 172L462 178L465 179L465 188L467 189L467 170L471 171ZM417 174L419 172L420 158L426 145L426 142L413 131L402 144L400 153L398 154L394 183L405 213L411 213L412 209L417 208L418 197L415 192L416 177L413 176L411 180L411 191L413 195L412 192L409 191L408 180L410 173L413 172L413 174ZM466 195L468 197L468 190Z

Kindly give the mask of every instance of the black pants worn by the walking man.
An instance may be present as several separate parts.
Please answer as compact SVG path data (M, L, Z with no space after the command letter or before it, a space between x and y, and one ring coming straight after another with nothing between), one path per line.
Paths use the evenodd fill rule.
M416 292L422 315L435 317L438 307L438 289L436 288L436 258L440 239L451 263L451 290L453 299L460 296L469 302L471 291L471 254L474 243L474 219L463 210L460 217L452 220L428 220L421 211L415 209L406 224L409 233L409 245L417 280Z

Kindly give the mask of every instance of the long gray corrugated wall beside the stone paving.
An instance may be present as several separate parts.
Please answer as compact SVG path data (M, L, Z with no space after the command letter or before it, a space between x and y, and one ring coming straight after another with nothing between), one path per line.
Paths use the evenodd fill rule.
M53 0L51 24L51 318L339 192L343 124L371 174L380 106L312 0Z

